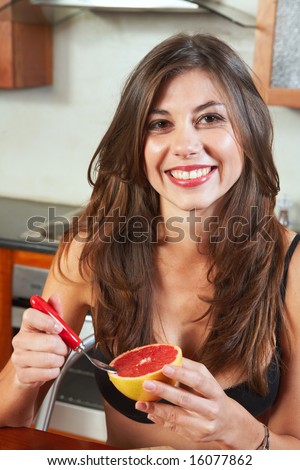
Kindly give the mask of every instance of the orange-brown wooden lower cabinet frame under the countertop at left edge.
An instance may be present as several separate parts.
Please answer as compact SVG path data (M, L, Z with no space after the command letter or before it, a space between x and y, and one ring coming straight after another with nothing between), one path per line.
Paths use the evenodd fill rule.
M8 361L11 352L12 327L12 273L14 264L49 269L51 254L0 248L0 370Z

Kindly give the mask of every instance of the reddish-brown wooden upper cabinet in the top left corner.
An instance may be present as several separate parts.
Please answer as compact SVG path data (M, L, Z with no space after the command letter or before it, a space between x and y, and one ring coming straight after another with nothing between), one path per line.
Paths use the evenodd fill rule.
M52 28L29 0L0 0L0 88L52 83Z

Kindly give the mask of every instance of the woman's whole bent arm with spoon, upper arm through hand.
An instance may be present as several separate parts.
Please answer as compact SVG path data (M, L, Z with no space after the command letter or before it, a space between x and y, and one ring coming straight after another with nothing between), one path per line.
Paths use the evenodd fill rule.
M43 297L79 333L90 305L90 285L79 274L82 246L72 243L62 260L57 257L49 272ZM0 373L0 426L28 426L52 381L59 375L68 348L58 333L61 327L35 309L24 312L19 333L13 338L13 354Z

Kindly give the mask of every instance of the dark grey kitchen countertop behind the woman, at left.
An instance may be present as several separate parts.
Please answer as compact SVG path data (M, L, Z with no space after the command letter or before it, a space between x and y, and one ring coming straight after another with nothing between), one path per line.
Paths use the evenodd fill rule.
M0 248L54 254L68 221L79 212L75 205L0 197ZM49 220L55 221L55 240L47 228Z

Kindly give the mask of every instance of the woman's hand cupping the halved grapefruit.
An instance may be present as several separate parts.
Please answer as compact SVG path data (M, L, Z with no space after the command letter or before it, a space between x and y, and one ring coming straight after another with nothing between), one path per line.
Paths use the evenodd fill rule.
M182 366L165 366L163 373L186 388L145 381L145 390L154 392L171 404L137 402L136 409L146 412L154 423L190 441L214 441L223 449L234 448L232 442L236 442L237 431L246 424L250 415L225 394L208 369L203 364L184 359ZM254 439L259 437L255 435Z

